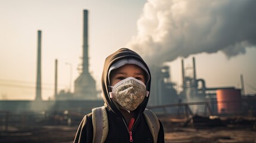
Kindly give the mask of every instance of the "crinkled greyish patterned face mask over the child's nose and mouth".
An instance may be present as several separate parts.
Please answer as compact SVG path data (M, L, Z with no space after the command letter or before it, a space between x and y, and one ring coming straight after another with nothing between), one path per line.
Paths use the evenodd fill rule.
M134 77L127 77L116 83L110 92L110 98L127 111L134 111L148 95L146 85Z

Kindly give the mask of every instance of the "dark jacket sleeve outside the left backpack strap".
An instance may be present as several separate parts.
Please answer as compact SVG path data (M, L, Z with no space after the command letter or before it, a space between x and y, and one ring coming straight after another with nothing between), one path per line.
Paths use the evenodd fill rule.
M82 119L76 132L74 143L91 143L93 138L93 127L91 114L87 114Z

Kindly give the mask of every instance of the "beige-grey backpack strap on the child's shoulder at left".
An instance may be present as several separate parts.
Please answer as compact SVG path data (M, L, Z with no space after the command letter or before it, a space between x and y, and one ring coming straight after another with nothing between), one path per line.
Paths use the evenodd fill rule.
M109 132L109 123L107 121L107 110L105 106L92 109L92 142L101 143L107 138Z

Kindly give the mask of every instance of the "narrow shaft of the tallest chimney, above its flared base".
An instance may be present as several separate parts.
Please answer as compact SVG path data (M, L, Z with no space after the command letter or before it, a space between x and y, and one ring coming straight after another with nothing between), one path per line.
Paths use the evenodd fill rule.
M84 36L83 36L83 73L89 73L88 62L88 10L84 10Z

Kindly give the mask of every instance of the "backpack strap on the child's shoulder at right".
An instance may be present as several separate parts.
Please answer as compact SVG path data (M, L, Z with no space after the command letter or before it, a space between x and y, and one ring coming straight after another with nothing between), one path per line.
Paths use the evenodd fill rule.
M153 111L147 108L144 110L144 116L147 120L147 125L149 125L149 129L153 136L154 143L156 143L158 141L158 132L160 129L158 117L155 113L153 113Z

